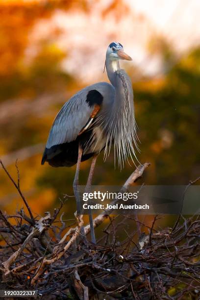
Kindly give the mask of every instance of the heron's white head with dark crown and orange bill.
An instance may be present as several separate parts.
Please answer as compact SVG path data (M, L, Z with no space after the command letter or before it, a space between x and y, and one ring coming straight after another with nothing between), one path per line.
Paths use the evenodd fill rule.
M113 42L108 46L106 56L109 57L109 59L111 60L132 60L132 58L124 52L122 44L117 42Z

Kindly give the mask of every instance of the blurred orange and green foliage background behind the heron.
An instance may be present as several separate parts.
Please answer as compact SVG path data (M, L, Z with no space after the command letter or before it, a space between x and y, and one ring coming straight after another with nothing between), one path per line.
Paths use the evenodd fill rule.
M42 214L63 194L73 194L75 167L41 166L42 152L63 103L86 84L108 80L102 72L105 51L115 40L133 56L123 67L133 82L138 159L151 163L143 181L184 185L199 175L200 39L198 23L188 29L187 18L193 16L184 19L181 13L190 6L195 14L200 7L195 9L198 1L178 1L178 7L168 1L174 10L159 27L153 12L160 5L156 16L162 19L168 7L149 2L151 15L125 0L0 2L0 158L15 177L18 159L21 187L33 212ZM81 184L89 166L90 161L82 163ZM112 153L106 162L101 154L94 184L120 185L133 169L126 164L120 171ZM72 214L70 201L65 211ZM8 213L22 206L2 170L0 206Z

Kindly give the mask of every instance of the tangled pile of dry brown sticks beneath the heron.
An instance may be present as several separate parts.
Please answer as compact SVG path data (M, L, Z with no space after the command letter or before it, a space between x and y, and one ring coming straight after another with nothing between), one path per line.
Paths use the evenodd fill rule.
M123 188L141 177L148 166L138 167ZM20 189L19 181L16 188ZM0 234L5 241L0 246L3 288L37 289L44 299L200 298L199 216L180 216L174 230L158 229L157 216L151 226L135 216L110 216L103 227L111 212L106 210L94 219L95 227L103 227L94 245L77 239L82 216L75 214L77 226L65 227L62 206L61 202L52 216L46 213L34 223L23 210L13 216L0 212ZM146 234L140 234L136 223ZM84 229L90 232L89 225ZM125 232L121 241L120 230Z

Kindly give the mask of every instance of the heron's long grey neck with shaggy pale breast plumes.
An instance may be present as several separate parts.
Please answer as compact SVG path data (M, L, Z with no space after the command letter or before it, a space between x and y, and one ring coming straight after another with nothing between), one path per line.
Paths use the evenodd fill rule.
M115 88L115 98L105 117L104 130L107 133L107 141L110 141L106 142L105 157L114 141L115 156L118 156L119 165L122 166L131 153L135 156L133 142L137 147L132 82L120 68L119 61L112 62L106 57L106 71Z

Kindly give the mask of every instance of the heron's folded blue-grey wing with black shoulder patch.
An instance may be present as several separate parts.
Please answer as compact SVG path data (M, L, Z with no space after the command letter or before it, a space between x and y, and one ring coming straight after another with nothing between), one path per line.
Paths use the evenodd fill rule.
M107 89L113 91L110 84L100 82L82 89L70 98L53 122L46 147L50 149L54 145L75 141L79 134L87 130L100 111Z

